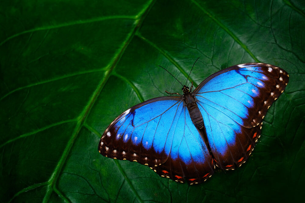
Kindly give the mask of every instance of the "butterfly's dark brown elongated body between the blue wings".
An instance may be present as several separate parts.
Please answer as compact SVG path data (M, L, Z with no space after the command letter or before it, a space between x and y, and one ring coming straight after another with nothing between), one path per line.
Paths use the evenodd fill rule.
M183 95L183 99L186 104L186 107L188 108L193 124L197 128L201 129L203 127L203 117L200 113L194 96L192 95L192 93L187 92Z

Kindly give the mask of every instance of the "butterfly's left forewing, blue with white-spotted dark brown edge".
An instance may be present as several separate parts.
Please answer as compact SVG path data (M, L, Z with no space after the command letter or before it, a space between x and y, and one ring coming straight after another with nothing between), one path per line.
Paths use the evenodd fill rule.
M180 97L162 97L126 110L102 135L99 152L110 158L148 166L164 163L169 151L165 149L165 143L172 141L172 136L167 134L174 124L165 122L163 117L169 116L173 122L179 103Z

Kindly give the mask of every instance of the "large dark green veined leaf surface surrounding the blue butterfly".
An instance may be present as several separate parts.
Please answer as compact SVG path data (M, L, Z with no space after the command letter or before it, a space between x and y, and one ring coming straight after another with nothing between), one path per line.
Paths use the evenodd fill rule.
M115 2L115 3L113 3ZM248 161L189 186L99 154L108 124L181 82L246 62L285 69ZM259 202L303 198L305 3L0 1L0 201Z

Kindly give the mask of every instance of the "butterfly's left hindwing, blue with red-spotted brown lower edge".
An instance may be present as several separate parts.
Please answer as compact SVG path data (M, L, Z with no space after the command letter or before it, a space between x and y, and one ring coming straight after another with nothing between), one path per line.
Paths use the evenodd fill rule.
M193 125L188 109L181 107L170 155L165 163L153 169L179 182L185 178L189 184L201 183L212 176L215 166L200 135L202 131Z

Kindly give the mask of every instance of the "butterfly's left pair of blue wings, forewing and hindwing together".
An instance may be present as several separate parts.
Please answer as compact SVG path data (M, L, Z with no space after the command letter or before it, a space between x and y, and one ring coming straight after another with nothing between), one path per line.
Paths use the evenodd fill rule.
M126 110L102 135L99 152L148 165L175 181L205 181L215 165L181 98L159 97Z

